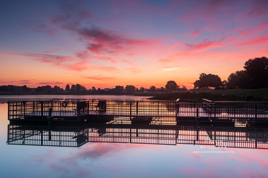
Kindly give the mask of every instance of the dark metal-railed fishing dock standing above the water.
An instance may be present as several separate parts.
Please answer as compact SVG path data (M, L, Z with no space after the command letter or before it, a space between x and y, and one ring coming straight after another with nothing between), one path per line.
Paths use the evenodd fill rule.
M8 104L11 121L268 126L268 102L53 99Z

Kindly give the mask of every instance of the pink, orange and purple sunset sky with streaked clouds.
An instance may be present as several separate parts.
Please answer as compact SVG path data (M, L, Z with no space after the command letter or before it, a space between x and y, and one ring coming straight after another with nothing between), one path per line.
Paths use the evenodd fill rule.
M0 1L0 85L193 88L268 57L268 1Z

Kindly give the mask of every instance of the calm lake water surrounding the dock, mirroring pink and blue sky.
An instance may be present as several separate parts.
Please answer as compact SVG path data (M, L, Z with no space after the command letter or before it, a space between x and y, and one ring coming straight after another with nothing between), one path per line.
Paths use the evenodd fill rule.
M145 100L140 96L0 96L1 177L265 177L268 149L197 144L87 142L80 147L7 144L7 100L87 98Z

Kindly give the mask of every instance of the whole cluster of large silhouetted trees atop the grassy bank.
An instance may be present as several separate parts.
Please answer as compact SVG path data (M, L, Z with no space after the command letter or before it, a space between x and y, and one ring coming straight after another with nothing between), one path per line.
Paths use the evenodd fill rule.
M227 80L221 81L218 75L202 73L195 81L195 88L266 88L268 87L268 59L266 57L249 59L244 70L231 73Z

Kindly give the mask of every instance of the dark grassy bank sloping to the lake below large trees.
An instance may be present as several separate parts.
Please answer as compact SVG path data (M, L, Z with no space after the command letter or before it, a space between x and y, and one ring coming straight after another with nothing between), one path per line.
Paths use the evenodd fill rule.
M193 90L155 94L150 99L176 100L178 98L194 100L205 98L213 101L268 101L268 89Z

